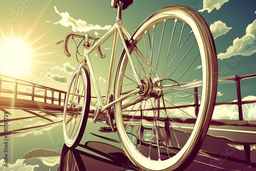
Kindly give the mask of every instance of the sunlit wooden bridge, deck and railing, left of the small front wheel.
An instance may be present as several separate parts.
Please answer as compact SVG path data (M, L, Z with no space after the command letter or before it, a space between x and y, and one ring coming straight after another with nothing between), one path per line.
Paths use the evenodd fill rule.
M63 110L66 92L0 75L2 108Z

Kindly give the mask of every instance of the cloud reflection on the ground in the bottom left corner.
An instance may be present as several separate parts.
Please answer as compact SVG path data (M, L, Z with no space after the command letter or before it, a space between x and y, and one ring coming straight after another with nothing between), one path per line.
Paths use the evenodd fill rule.
M36 165L26 165L23 164L24 160L18 159L15 163L9 164L8 167L5 166L4 159L0 160L0 170L19 170L19 171L26 171L26 170L34 170L35 167L39 167L38 164Z

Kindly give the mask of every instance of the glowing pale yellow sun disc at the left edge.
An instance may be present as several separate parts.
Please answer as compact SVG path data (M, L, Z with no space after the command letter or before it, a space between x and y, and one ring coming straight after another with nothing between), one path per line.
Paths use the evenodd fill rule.
M31 51L26 42L18 38L9 38L0 45L0 70L6 75L26 74L31 65Z

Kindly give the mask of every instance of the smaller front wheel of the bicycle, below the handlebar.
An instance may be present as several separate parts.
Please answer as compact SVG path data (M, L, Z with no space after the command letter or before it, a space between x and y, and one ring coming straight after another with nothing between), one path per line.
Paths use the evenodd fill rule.
M76 78L77 82L76 82ZM86 69L77 69L71 78L63 111L63 135L68 147L76 147L86 128L91 102L90 78Z

